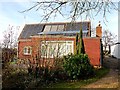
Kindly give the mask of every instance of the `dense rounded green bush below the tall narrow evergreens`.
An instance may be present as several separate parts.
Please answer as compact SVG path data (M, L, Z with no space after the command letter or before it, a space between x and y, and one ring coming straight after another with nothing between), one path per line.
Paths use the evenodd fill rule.
M63 67L70 79L85 78L94 72L86 54L64 56Z

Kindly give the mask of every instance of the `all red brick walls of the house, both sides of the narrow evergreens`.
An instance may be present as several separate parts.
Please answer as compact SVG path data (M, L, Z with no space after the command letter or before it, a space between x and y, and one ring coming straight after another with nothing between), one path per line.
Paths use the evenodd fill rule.
M30 40L19 40L18 43L18 57L20 59L30 59L33 61L33 59L36 58L36 55L40 55L40 43L43 40L72 40L74 41L74 51L76 50L76 38L75 37L61 37L61 36L48 36L45 38L43 37L33 37ZM90 63L92 65L100 65L100 38L84 38L84 46L85 51L88 54L88 57L90 59ZM23 54L23 48L24 46L31 46L32 47L32 54L31 55L24 55ZM41 61L42 62L42 61ZM52 60L53 62L53 60Z

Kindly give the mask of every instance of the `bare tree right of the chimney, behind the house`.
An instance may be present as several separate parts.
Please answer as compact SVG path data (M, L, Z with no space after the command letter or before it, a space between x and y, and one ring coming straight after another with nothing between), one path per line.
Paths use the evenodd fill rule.
M103 36L102 36L102 41L103 41L103 47L104 50L106 51L108 48L108 53L110 53L110 46L115 44L117 36L112 34L110 31L105 30L103 31Z

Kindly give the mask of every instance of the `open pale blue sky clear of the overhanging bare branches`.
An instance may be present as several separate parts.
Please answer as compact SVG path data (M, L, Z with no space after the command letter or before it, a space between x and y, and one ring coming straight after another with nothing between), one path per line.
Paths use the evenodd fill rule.
M29 12L20 13L30 6L33 5L33 1L36 0L0 0L0 41L3 39L3 32L7 30L8 26L20 26L23 27L24 24L28 23L40 23L41 15L43 12L31 10ZM39 1L39 0L38 0ZM51 22L64 22L70 21L58 15L54 20L51 19ZM77 21L80 21L78 19ZM82 20L84 21L84 20ZM101 22L102 29L108 29L113 34L118 34L118 12L113 10L111 14L107 14L107 21L103 22L102 15L98 15L91 19L92 28L95 28L99 21ZM17 31L18 33L21 30Z

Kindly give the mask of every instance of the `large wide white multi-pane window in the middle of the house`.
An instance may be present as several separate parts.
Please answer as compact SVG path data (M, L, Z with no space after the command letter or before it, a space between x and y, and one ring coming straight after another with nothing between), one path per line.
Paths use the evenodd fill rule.
M41 57L61 57L73 52L73 41L46 41L46 44L41 44Z

